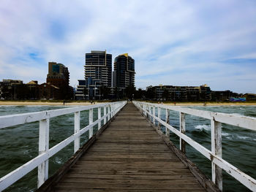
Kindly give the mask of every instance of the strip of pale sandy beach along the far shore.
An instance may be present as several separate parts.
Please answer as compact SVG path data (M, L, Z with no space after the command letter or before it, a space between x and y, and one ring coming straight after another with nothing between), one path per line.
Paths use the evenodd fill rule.
M105 102L95 102L95 104L102 104ZM94 103L93 103L94 104ZM160 103L161 104L161 103ZM205 106L205 102L176 102L176 105L174 102L170 103L162 103L165 105L171 105L171 106ZM48 101L0 101L0 106L4 105L50 105L50 106L85 106L85 105L91 105L91 102L84 101L84 102L48 102ZM234 102L234 103L221 103L221 102L206 102L207 106L256 106L256 102Z

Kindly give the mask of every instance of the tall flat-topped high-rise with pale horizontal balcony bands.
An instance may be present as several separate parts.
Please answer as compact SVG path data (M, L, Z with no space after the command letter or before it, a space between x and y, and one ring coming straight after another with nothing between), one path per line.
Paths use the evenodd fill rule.
M112 55L106 51L86 53L85 79L89 97L100 97L100 87L111 87Z

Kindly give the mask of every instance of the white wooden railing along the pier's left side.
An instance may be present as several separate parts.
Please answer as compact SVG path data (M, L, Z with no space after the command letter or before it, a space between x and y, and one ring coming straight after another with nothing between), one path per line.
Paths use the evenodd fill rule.
M31 123L39 121L39 155L31 161L23 164L9 174L1 177L0 179L0 191L9 187L21 177L31 172L38 166L38 180L37 187L45 183L48 179L48 159L54 154L58 153L69 143L74 142L74 153L80 148L80 136L86 131L89 131L89 139L93 136L93 127L98 124L98 130L102 127L101 122L103 120L104 125L112 118L116 113L121 110L127 101L120 101L114 103L105 103L97 105L89 105L84 107L70 107L61 110L49 110L42 112L31 112L18 115L6 115L0 117L0 129L10 126L17 126L23 123ZM101 117L101 111L103 107L104 115ZM98 119L93 121L93 109L98 109ZM89 110L89 126L80 129L80 112ZM108 111L108 113L107 113ZM74 113L74 134L67 139L64 139L59 144L49 149L49 127L50 118L58 117L60 115L67 115ZM103 125L103 126L104 126ZM0 130L1 131L1 130Z

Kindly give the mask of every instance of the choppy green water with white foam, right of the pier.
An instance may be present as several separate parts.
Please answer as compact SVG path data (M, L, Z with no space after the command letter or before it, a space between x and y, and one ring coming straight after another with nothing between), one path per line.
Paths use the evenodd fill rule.
M256 106L217 106L189 107L197 110L225 112L228 114L256 117ZM165 119L165 112L161 112ZM179 130L178 112L170 112L170 124ZM255 125L256 126L256 125ZM162 128L165 132L165 128ZM186 115L186 134L196 142L211 150L211 121ZM170 140L179 147L179 138L170 134ZM190 145L186 147L186 155L204 174L211 178L211 161L198 153ZM222 158L241 171L256 178L256 131L238 128L222 123ZM223 191L249 191L244 185L223 171Z

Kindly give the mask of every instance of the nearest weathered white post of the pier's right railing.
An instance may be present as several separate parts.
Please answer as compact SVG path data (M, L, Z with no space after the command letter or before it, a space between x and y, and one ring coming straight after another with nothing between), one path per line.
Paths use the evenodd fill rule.
M222 123L211 120L211 153L222 158ZM222 191L222 169L211 161L211 177Z

